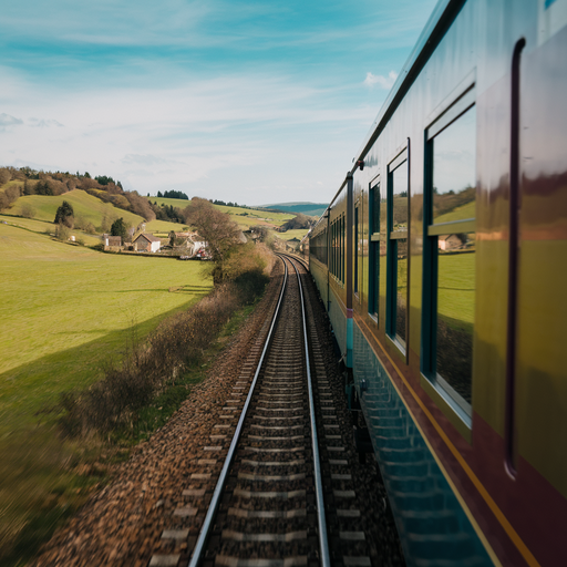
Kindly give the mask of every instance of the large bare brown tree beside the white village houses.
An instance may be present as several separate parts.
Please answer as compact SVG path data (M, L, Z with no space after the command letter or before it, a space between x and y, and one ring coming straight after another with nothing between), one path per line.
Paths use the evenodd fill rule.
M183 210L185 221L193 225L207 243L215 268L213 279L220 284L225 279L224 264L239 243L240 229L230 220L228 213L221 213L207 199L193 197L192 204Z

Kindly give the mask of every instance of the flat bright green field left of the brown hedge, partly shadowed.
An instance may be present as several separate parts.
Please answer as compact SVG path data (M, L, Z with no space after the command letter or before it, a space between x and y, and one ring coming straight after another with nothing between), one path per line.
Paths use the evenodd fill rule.
M212 287L197 262L104 255L9 225L0 246L0 430L100 378L133 322L147 333Z

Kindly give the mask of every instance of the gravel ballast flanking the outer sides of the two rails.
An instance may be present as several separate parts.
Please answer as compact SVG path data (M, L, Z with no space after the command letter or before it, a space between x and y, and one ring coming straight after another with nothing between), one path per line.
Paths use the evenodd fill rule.
M221 454L231 439L230 425L223 416L235 389L240 388L243 372L259 357L281 277L281 266L276 266L265 297L227 342L206 379L193 388L173 417L116 468L112 482L58 530L31 565L187 565ZM311 287L308 276L305 280ZM326 408L318 419L326 422L329 413L333 414L332 427L322 429L320 442L326 502L341 511L329 516L332 564L343 565L343 551L350 546L361 565L403 565L375 461L368 457L360 463L352 442L352 416L344 403L332 333L312 287L309 309L311 333L318 341L313 364L326 384L320 396Z

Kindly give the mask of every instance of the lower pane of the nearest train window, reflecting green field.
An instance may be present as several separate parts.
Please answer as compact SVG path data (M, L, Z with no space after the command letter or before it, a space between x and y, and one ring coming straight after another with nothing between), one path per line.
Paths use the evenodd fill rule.
M475 235L437 237L436 373L470 414L475 308ZM455 393L457 395L455 395Z

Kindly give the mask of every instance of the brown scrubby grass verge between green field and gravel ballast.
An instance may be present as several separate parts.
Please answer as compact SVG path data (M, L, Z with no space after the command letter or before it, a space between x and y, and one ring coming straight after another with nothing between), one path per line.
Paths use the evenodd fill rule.
M0 494L2 566L29 561L55 528L109 481L113 465L127 457L130 447L148 439L179 409L254 309L267 278L252 276L252 285L241 281L233 289L217 289L186 312L162 321L143 341L136 341L133 329L128 352L120 365L106 368L105 380L87 390L68 392L33 431L20 431L3 443L3 453L12 463L6 471L0 466L7 481ZM197 339L195 330L199 330ZM188 355L187 343L175 334L187 336L193 344ZM116 392L115 383L131 386L145 378L152 379L151 391L142 386L134 392L135 404L123 404L118 411L110 404L109 415L109 404L99 403L117 393L130 400L132 388ZM92 392L96 395L90 396ZM62 430L64 440L56 435Z

